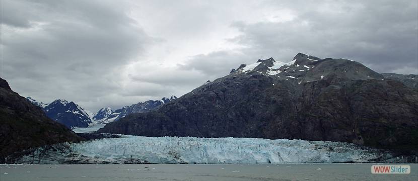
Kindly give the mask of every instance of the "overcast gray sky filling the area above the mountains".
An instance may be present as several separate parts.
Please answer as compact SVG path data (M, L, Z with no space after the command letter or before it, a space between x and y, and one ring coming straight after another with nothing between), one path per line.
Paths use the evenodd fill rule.
M0 76L96 112L298 52L418 74L417 2L0 0Z

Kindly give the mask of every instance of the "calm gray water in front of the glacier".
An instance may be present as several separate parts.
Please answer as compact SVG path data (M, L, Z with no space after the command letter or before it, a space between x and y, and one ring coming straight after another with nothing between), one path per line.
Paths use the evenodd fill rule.
M0 165L0 180L418 180L409 165L410 174L371 174L371 164Z

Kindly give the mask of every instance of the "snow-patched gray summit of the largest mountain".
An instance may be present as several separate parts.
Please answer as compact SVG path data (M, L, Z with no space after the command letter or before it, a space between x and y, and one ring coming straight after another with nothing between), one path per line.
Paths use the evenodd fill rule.
M284 63L272 58L258 60L256 63L241 65L232 74L262 74L278 80L290 80L298 84L328 78L342 79L382 79L382 75L361 63L346 59L321 59L298 53L292 61Z

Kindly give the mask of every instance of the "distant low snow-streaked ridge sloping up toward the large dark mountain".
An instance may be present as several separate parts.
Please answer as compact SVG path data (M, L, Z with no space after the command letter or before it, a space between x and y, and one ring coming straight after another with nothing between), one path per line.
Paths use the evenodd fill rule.
M104 123L104 124L111 123L113 121L116 121L116 120L119 120L120 118L125 117L128 114L132 114L132 113L146 113L146 112L149 112L149 111L158 110L163 105L165 105L168 102L170 102L172 100L175 100L175 99L177 99L176 96L171 96L170 98L164 97L161 100L155 100L155 101L149 100L149 101L146 101L144 103L140 102L140 103L137 103L137 104L133 104L131 106L125 106L125 107L123 107L121 109L117 109L117 110L113 111L107 117L106 116L104 116L104 117L98 117L100 119L96 118L96 119L93 119L93 121L95 123L99 123L99 124L102 124L102 123ZM99 115L99 114L102 115L101 112L102 112L103 109L105 109L107 111L106 112L106 114L107 114L109 112L108 109L110 109L110 108L102 108L102 109L100 109L96 113L96 115Z

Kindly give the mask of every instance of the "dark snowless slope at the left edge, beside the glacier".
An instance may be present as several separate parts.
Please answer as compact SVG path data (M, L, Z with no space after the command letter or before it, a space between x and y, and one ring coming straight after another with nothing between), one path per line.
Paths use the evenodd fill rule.
M12 91L0 78L0 163L9 154L32 147L82 138L64 125L49 119L37 106Z

